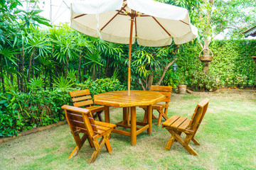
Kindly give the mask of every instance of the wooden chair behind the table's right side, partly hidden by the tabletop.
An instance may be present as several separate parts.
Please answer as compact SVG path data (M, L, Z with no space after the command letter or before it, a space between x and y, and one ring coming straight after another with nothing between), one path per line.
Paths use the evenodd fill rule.
M152 105L152 110L155 109L156 111L159 112L159 118L157 121L157 125L161 125L161 117L163 117L165 120L168 119L167 111L168 111L169 102L170 102L170 98L171 98L171 89L172 88L173 88L172 86L151 86L151 91L159 91L161 94L164 94L164 96L166 96L166 98L162 101L162 102L165 102L165 104L156 103L156 104ZM143 108L145 111L143 122L146 123L146 118L147 118L146 106L139 106L139 107ZM152 115L152 118L156 118L156 117L154 115Z

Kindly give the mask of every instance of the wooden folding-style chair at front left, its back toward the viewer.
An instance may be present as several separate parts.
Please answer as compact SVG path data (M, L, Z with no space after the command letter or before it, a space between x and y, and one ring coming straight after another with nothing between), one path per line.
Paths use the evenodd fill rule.
M88 164L95 162L103 145L107 148L107 152L112 152L109 137L110 132L114 128L117 128L117 125L95 121L92 118L90 110L85 108L77 108L67 105L62 106L61 108L65 111L65 117L68 120L68 125L70 126L71 133L73 134L76 143L76 147L73 149L73 152L68 159L78 154L78 151L81 149L86 139L89 141L90 146L95 149ZM82 138L79 136L80 133L84 134ZM97 141L97 138L99 137L102 137L100 143Z

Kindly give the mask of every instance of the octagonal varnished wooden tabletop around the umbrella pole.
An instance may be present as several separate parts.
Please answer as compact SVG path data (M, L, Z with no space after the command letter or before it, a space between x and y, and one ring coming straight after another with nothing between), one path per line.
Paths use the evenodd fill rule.
M94 96L95 104L112 107L132 107L149 106L166 98L157 91L138 91L132 90L128 96L128 91L110 91Z

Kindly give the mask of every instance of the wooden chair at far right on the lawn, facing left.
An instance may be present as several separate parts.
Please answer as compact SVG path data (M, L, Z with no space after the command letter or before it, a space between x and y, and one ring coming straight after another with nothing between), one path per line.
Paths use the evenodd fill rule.
M210 99L208 98L201 101L196 106L191 119L173 115L162 124L162 128L166 128L171 133L171 137L165 147L166 150L171 149L171 145L177 140L190 154L198 156L198 153L189 145L189 142L192 140L196 145L200 145L195 139L195 135L203 120L203 116L206 114L209 101ZM181 137L182 132L186 134L185 140Z

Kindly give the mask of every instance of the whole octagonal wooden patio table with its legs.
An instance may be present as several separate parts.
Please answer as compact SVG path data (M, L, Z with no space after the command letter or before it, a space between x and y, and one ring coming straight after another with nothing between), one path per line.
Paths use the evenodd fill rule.
M110 91L104 94L94 96L95 104L105 106L105 122L110 123L110 106L123 108L123 120L117 123L117 127L131 128L131 132L124 130L112 130L121 135L131 137L131 144L136 145L137 135L147 130L148 134L152 132L152 114L147 114L147 123L136 121L136 106L147 106L147 111L152 112L152 105L166 98L157 91L138 91L132 90L130 96L128 91ZM131 121L129 121L129 112ZM137 125L142 127L137 127Z

